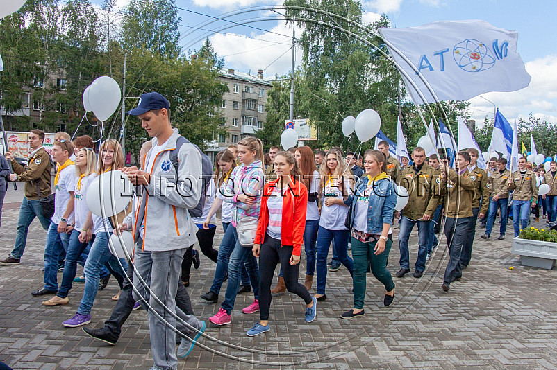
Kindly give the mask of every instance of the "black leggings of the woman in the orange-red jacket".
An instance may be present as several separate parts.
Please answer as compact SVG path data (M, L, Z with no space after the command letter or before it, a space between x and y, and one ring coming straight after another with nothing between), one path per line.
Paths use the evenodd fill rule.
M281 240L271 238L269 234L265 235L265 242L261 245L259 253L259 318L261 320L269 319L271 283L277 263L281 263L284 283L288 292L297 294L298 297L304 299L306 304L310 304L312 301L306 287L298 283L300 264L290 265L292 249L294 249L292 245L281 246Z

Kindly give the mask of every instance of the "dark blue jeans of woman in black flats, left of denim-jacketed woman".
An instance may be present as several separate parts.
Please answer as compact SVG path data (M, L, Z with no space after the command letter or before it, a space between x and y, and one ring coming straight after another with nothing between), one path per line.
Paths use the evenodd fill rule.
M325 294L327 281L327 256L331 241L334 241L337 249L338 259L344 265L350 275L354 274L354 261L348 256L349 230L328 230L319 226L317 231L317 294Z

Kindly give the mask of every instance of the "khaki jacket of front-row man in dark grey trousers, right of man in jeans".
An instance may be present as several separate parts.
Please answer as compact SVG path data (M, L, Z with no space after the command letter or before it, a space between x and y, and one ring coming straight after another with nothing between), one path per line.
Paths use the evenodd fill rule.
M463 175L456 170L450 169L447 177L441 179L441 191L445 195L444 214L450 218L472 217L472 200L476 182L470 177L472 173L468 169Z

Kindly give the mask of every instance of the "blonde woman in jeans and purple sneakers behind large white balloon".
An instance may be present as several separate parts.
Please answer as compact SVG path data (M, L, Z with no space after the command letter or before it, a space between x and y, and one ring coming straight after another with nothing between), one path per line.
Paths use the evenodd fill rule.
M99 165L97 167L97 174L106 173L111 170L117 170L124 166L124 153L122 146L115 139L107 139L101 143L99 148ZM101 269L105 263L110 266L110 272L115 274L118 282L124 281L126 274L127 263L124 258L118 262L117 258L110 253L108 248L108 240L110 234L113 232L113 225L118 224L117 221L112 221L110 218L103 218L98 215L91 214L85 222L85 229L91 227L94 234L94 242L89 252L87 262L85 263L85 290L83 291L83 298L77 310L76 315L71 319L64 321L62 324L67 328L75 328L83 326L91 322L91 309L93 307L94 299L97 297L97 290L99 289L99 277ZM122 267L120 267L122 263ZM122 283L120 283L122 288Z

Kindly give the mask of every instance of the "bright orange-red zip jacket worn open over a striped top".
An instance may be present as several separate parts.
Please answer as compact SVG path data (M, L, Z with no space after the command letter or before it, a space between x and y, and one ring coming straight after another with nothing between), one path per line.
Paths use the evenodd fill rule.
M272 195L278 179L268 182L263 188L261 197L261 211L257 225L255 244L263 244L265 232L269 224L269 209L267 200ZM283 189L283 217L281 230L281 245L292 245L292 254L301 254L301 244L304 243L304 229L306 229L306 211L308 209L308 189L299 181L292 180L290 186Z

